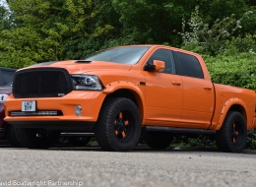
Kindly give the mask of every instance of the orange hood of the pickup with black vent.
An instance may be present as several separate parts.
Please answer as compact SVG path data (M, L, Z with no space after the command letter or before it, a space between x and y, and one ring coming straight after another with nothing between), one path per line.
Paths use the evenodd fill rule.
M119 64L104 61L86 61L86 60L69 60L69 61L52 61L34 64L28 68L65 68L69 74L84 74L94 71L110 71L110 70L124 70L129 71L131 65ZM28 69L26 68L26 69Z

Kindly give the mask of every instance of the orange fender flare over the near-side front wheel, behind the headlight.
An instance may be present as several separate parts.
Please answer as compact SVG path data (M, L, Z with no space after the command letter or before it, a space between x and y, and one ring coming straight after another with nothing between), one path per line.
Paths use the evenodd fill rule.
M141 112L141 118L142 118L142 123L144 121L144 106L145 106L145 99L144 99L144 94L142 93L141 89L134 83L131 82L126 82L126 81L116 81L109 83L108 85L105 86L105 89L102 91L104 94L112 94L115 91L118 90L129 90L132 93L134 93L134 96L137 100L137 104L139 107L139 110Z

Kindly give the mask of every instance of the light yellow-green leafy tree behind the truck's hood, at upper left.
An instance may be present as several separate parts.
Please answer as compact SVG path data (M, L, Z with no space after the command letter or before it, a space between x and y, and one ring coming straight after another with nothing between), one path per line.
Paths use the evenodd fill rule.
M107 9L111 4L106 0L100 6L95 0L9 0L8 3L15 28L0 33L2 66L21 68L36 62L82 58L102 47L103 39L113 33L111 19L118 21L117 17L100 20L102 13L112 14Z

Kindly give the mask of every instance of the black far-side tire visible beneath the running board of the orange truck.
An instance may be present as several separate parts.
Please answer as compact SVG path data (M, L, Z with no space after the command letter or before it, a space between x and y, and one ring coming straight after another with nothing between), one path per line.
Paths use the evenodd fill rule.
M146 144L154 150L165 150L173 140L173 135L167 132L151 132L144 134Z

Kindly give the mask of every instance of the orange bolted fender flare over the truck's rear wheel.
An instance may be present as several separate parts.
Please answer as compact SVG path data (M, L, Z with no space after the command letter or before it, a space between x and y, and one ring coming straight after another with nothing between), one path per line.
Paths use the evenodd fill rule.
M247 113L246 113L247 107L246 107L245 103L240 98L232 97L232 98L227 99L224 102L224 107L223 107L223 109L221 111L220 118L219 118L219 120L217 122L217 127L216 127L215 130L218 131L218 130L220 130L222 128L223 123L224 123L224 118L225 118L228 110L230 109L230 107L232 105L235 105L235 104L242 106L242 112L243 112L242 115L244 116L245 122L247 122L248 116L247 116Z

